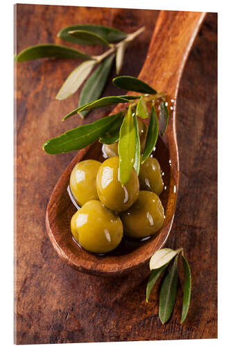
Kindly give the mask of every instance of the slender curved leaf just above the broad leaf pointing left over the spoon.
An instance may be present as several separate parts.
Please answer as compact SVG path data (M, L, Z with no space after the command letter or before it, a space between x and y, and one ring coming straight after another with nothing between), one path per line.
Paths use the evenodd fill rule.
M89 102L85 105L78 106L77 109L74 109L70 113L68 113L62 120L66 120L67 118L75 115L78 112L82 112L85 110L92 110L92 109L97 109L101 108L103 106L109 106L109 105L114 105L118 103L128 103L129 100L125 99L124 97L103 97L99 100L95 100L94 102Z

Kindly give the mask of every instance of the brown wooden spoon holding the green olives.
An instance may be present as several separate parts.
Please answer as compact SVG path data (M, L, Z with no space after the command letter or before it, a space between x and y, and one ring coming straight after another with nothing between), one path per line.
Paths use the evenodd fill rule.
M189 51L203 22L205 13L161 11L155 25L146 61L139 79L175 101L164 139L159 138L155 157L164 171L166 189L160 196L166 219L157 236L145 242L123 238L119 247L107 255L94 255L80 248L70 231L71 216L76 207L71 203L67 187L72 169L84 159L103 161L99 142L80 150L62 173L46 209L46 229L53 247L62 260L78 271L95 276L121 276L148 262L151 255L166 242L176 209L179 182L178 145L176 139L176 97L182 70ZM118 111L120 106L114 111ZM113 111L113 113L114 113Z

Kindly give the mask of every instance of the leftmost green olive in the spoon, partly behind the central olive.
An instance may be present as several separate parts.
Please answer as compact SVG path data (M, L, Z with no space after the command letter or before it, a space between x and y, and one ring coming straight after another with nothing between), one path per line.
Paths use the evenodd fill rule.
M88 200L99 199L96 191L96 174L100 166L101 162L86 159L78 162L71 172L71 193L80 207Z

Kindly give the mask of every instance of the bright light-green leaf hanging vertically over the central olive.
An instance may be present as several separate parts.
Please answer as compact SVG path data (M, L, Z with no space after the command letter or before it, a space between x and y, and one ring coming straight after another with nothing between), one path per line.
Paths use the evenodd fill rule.
M129 106L120 128L118 144L119 181L123 186L126 185L130 179L130 174L135 164L135 144L136 131L133 122L132 108Z

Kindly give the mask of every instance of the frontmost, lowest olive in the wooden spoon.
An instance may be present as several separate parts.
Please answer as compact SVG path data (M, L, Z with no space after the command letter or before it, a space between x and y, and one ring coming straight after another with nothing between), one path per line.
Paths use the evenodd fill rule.
M108 253L121 242L123 224L99 200L89 200L72 216L71 233L85 250Z

